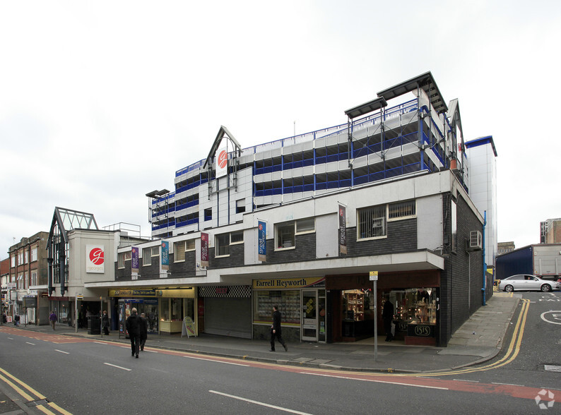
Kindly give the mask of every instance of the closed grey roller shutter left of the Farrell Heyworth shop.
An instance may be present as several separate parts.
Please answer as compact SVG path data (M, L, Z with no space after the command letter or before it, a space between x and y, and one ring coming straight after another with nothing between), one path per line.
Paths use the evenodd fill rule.
M204 299L204 331L210 335L251 339L251 299L212 297Z

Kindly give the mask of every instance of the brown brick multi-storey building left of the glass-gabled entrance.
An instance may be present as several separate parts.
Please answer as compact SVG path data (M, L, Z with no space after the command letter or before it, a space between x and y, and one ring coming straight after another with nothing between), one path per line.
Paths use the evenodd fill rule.
M9 248L8 315L19 315L23 324L49 323L49 304L42 296L47 285L47 236L37 232Z

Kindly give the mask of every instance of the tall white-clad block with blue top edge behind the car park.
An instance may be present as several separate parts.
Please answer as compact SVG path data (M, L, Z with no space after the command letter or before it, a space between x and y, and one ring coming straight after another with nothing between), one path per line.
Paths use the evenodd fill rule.
M497 149L492 136L466 142L469 160L469 196L479 212L486 212L485 263L495 268L497 248Z

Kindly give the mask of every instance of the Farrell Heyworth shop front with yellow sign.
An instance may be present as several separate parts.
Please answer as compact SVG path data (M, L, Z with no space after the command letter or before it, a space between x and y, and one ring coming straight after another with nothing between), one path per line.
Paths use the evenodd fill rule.
M273 306L287 342L326 342L325 277L254 279L253 337L269 339Z

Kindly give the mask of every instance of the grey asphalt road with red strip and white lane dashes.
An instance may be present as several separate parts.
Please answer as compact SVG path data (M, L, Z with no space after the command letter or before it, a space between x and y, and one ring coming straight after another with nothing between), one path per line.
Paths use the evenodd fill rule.
M561 294L523 296L526 318L509 333L523 332L519 343L463 371L350 373L155 349L134 359L121 344L22 331L0 332L0 384L54 414L558 413L561 374L545 365L561 366Z

